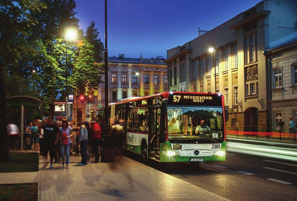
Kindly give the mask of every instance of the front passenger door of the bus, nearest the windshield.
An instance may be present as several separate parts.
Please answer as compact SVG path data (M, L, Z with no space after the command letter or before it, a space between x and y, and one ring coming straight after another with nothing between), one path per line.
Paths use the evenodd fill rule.
M160 107L151 107L149 114L149 157L160 160Z

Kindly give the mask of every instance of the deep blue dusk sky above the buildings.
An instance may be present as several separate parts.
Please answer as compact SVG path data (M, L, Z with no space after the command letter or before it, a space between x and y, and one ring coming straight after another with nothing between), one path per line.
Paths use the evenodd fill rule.
M108 56L167 57L166 50L198 37L260 0L108 0ZM76 17L86 31L94 21L104 39L104 0L76 0Z

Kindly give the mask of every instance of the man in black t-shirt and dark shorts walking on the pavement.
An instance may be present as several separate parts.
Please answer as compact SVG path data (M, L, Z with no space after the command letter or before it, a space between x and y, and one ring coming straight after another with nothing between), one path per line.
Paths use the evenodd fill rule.
M58 143L60 139L60 129L56 124L53 124L53 117L48 117L48 123L42 126L43 129L43 156L47 161L48 151L50 152L50 169L54 169L53 160L55 155L55 145Z

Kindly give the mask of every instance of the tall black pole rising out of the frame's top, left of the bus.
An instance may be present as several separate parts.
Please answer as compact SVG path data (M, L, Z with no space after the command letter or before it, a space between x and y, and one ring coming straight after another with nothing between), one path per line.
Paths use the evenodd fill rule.
M107 51L107 0L105 0L105 51L104 51L104 61L105 61L105 127L108 127L108 51Z

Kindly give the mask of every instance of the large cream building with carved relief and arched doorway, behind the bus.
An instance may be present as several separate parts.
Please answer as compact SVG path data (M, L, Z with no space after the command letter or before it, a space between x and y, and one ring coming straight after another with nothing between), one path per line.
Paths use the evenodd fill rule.
M263 51L296 32L296 7L293 0L261 1L167 50L168 90L180 91L180 83L186 82L186 91L223 94L230 113L228 129L270 126L268 62ZM210 41L215 43L215 54L208 52Z

